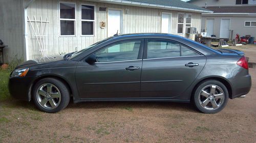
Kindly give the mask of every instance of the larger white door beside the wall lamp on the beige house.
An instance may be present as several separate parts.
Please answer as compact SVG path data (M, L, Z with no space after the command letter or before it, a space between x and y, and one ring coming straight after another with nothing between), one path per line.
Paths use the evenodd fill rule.
M122 33L122 11L108 10L108 37Z

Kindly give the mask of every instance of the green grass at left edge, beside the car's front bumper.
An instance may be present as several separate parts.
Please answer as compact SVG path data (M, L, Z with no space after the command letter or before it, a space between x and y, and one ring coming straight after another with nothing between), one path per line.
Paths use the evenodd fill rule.
M0 101L10 98L10 93L8 91L9 75L10 71L0 70Z

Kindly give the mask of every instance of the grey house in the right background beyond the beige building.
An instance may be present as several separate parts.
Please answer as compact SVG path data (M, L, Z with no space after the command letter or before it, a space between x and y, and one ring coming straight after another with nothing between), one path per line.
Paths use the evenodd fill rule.
M202 14L201 30L209 36L232 40L240 34L256 38L256 0L190 0L188 3L214 11Z

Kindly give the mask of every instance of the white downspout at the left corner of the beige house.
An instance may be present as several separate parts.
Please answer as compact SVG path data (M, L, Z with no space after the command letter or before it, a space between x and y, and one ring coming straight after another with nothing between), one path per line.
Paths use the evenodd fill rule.
M30 0L26 5L24 5L24 47L25 47L25 61L29 60L29 46L28 46L28 13L27 8L32 4L35 0ZM24 1L23 1L24 2Z

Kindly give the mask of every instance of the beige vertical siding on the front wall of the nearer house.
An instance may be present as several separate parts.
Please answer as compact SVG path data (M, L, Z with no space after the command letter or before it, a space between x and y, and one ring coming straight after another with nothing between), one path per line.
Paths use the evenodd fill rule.
M60 1L62 2L62 1ZM190 13L182 11L162 10L154 8L142 8L133 6L123 6L105 3L94 3L88 1L63 1L76 3L76 36L74 37L60 37L59 36L59 1L57 0L36 0L28 8L28 16L33 19L36 16L37 20L42 16L43 20L49 19L48 29L48 53L49 55L69 53L103 40L107 38L107 14L106 11L99 11L99 7L114 8L123 10L123 33L160 33L161 32L161 13L168 12L172 13L172 34L177 34L177 22L178 13L189 13L192 14L191 26L197 27L200 32L201 13ZM81 21L80 21L80 4L91 4L95 5L95 36L81 36ZM126 9L129 10L126 13ZM103 21L106 23L104 29L101 29L99 24ZM34 25L35 26L35 25ZM29 47L29 58L34 59L41 56L38 50L38 44L36 38L31 29L31 25L28 24L28 47ZM193 38L190 35L185 34L185 23L183 37Z

